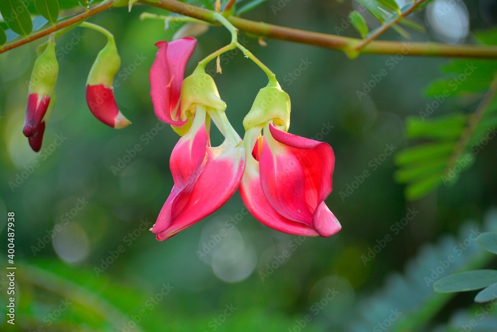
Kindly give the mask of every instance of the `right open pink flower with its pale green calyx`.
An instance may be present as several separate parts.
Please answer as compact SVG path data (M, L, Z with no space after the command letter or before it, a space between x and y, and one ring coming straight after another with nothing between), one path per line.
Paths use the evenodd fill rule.
M341 228L324 202L331 193L333 150L327 143L287 133L289 115L284 91L261 89L244 119L247 166L240 194L248 211L271 228L331 236Z

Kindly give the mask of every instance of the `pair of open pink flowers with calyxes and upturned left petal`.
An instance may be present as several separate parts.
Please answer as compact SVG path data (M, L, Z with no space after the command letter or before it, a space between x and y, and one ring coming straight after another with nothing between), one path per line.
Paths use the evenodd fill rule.
M174 186L152 232L165 240L219 209L237 188L248 211L276 230L331 236L341 228L325 204L334 154L324 142L288 133L290 98L277 82L259 91L242 140L203 66L183 80L196 40L161 41L150 71L156 115L182 137L170 158ZM210 145L211 120L225 137Z

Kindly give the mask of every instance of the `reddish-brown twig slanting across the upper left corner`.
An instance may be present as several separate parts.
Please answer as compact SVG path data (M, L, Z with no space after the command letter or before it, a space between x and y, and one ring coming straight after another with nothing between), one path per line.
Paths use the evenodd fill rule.
M19 39L17 41L8 43L8 44L4 45L2 49L0 49L0 53L3 53L3 52L11 50L13 48L22 46L24 44L27 44L27 43L33 41L33 40L36 40L36 39L48 36L49 34L55 32L55 31L59 31L59 30L65 28L65 27L73 25L73 24L75 24L77 22L84 21L88 17L93 16L95 14L98 14L99 12L102 12L102 11L104 11L104 10L109 9L110 7L112 7L112 4L114 3L114 1L115 0L109 0L108 2L101 3L101 4L95 6L95 7L91 8L91 9L83 11L81 14L78 14L78 15L73 16L71 18L68 18L66 20L57 22L55 24L55 26L50 26L50 27L48 27L46 29L43 29L43 30L38 31L36 33L33 33L33 34L29 35L26 38Z

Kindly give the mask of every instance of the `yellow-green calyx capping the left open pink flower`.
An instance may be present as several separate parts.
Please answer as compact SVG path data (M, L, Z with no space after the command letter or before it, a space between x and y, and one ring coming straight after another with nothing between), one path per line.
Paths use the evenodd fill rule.
M226 103L219 97L214 80L209 74L195 71L184 79L181 85L181 118L186 112L195 113L197 105L203 105L219 111L226 110Z

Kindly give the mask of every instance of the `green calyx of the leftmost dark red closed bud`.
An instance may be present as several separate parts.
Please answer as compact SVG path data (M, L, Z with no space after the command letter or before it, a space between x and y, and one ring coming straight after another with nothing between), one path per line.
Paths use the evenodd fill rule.
M59 75L59 62L55 55L55 37L50 35L45 51L36 59L29 80L29 94L52 96Z

